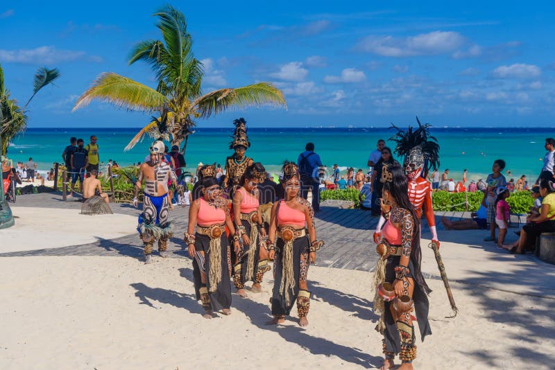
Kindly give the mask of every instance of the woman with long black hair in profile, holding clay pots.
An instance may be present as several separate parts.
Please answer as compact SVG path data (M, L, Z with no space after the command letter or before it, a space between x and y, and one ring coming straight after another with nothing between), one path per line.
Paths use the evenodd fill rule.
M384 148L385 150L385 148ZM398 369L413 369L416 345L411 312L416 311L421 340L432 334L428 322L428 285L420 271L420 219L407 193L408 180L400 166L385 169L387 180L382 191L382 213L386 224L375 274L377 285L374 307L382 317L376 327L384 335L384 365L393 367L396 354L402 361ZM387 284L386 284L387 283Z

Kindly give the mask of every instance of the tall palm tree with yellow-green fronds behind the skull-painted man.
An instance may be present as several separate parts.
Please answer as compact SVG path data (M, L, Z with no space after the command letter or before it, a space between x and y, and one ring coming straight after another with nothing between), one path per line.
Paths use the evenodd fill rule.
M194 58L193 39L187 32L185 16L172 6L165 6L154 14L162 39L150 39L136 44L129 64L142 60L151 65L157 78L152 89L139 82L118 75L101 73L92 87L77 100L74 111L93 99L110 102L117 107L156 113L130 141L130 150L145 134L153 137L170 136L172 145L185 144L195 126L196 118L208 118L230 108L274 105L286 107L283 93L270 82L259 82L244 87L218 89L203 94L203 63Z

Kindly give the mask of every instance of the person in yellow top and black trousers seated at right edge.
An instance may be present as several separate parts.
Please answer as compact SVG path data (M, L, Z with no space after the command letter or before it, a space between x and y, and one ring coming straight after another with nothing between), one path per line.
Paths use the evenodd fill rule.
M518 245L503 245L511 253L524 254L527 243L536 243L536 238L542 233L555 232L555 186L552 180L540 179L540 195L543 197L539 215L530 215L520 231Z

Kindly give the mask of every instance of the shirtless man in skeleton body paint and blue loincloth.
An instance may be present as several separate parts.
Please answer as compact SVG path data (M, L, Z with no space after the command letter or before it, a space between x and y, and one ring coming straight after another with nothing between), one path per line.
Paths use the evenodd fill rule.
M164 162L164 143L155 141L150 148L150 161L139 167L139 179L135 183L133 206L139 202L137 195L144 179L143 212L139 215L139 236L144 243L144 263L151 263L152 247L158 240L158 252L162 258L167 257L168 239L173 236L171 222L168 220L169 199L168 180L177 187L176 174L167 162Z

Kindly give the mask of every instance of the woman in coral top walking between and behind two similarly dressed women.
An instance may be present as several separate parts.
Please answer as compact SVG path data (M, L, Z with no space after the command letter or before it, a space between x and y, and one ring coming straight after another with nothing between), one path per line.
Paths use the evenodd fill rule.
M260 283L268 266L266 247L260 248L260 240L266 238L259 211L259 191L257 185L266 178L266 170L259 162L247 168L241 187L233 196L233 219L241 235L243 247L235 254L233 261L233 283L237 294L246 297L244 283L253 281L253 292L262 292Z

